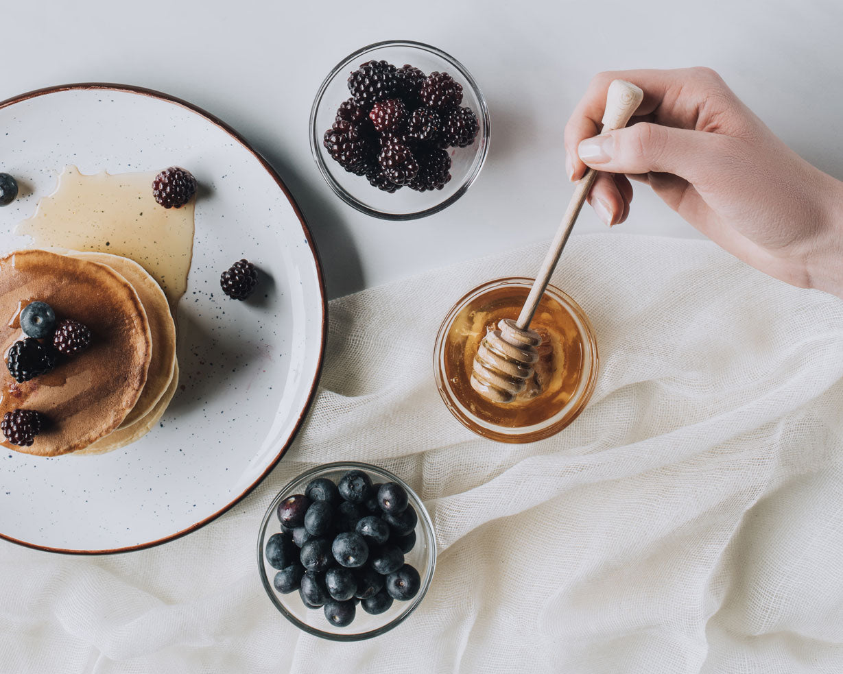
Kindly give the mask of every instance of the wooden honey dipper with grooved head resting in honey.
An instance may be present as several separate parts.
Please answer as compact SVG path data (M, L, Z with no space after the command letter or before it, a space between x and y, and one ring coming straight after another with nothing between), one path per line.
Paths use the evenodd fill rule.
M644 92L635 84L622 79L609 84L601 133L626 126L643 98ZM539 360L536 347L541 344L541 337L535 330L529 329L529 324L596 177L597 171L588 169L577 183L565 217L550 243L545 261L533 281L518 319L513 321L512 318L503 318L498 322L497 329L490 330L481 341L471 372L471 388L493 403L513 402L518 393L524 390L527 379L533 375L533 364Z

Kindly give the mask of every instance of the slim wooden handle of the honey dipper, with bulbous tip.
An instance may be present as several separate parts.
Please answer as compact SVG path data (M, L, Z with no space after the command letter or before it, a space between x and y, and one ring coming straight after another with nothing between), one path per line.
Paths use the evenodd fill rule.
M616 79L609 84L609 91L606 94L606 110L603 115L603 131L614 131L615 129L622 129L626 126L638 106L644 98L644 92L636 87L635 84L626 82L622 79ZM556 263L562 254L562 249L571 236L571 230L574 227L574 222L577 222L577 216L583 208L588 191L594 184L594 179L597 177L597 171L588 169L582 179L577 182L577 189L568 202L565 217L562 217L562 222L559 223L559 229L556 230L556 236L550 243L550 249L547 251L545 261L541 265L538 275L533 281L533 287L530 288L529 295L524 301L524 307L521 313L518 314L518 321L516 324L520 329L527 329L530 321L533 320L533 314L539 306L541 297L545 294L547 284L550 282L550 275L556 269Z

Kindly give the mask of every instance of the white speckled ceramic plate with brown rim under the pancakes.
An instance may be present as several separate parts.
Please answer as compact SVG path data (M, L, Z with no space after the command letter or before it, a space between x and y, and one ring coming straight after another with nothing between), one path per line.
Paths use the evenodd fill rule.
M319 259L275 171L233 129L184 101L110 84L56 87L0 103L0 163L20 196L0 208L0 248L56 189L85 174L196 175L196 240L180 303L180 389L161 425L93 457L0 455L0 536L58 552L163 543L201 527L260 482L313 399L325 347ZM223 296L236 259L259 266L260 293Z

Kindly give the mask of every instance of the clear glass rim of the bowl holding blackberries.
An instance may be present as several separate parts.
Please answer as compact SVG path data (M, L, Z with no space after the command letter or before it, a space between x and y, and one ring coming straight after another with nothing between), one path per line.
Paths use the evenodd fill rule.
M444 62L447 62L449 66L454 67L454 69L459 72L459 74L464 78L464 80L469 83L471 90L474 92L475 98L477 99L478 105L480 106L479 117L482 118L482 130L483 135L481 139L481 147L479 147L480 154L480 161L476 162L475 169L468 174L465 179L463 180L462 185L459 185L459 189L454 192L453 195L450 195L448 199L444 201L438 202L429 208L426 208L422 211L413 211L411 213L385 213L384 211L377 211L369 206L366 206L362 201L359 201L353 195L349 194L345 190L345 188L340 185L334 176L328 170L328 166L325 163L325 158L322 156L322 152L319 150L319 137L318 131L316 130L316 115L319 112L319 105L322 103L322 98L325 96L325 91L330 86L330 83L334 81L334 78L343 70L348 67L348 65L354 61L356 61L360 56L367 54L370 51L376 51L378 49L383 49L384 47L410 47L411 49L419 49L421 51L428 51L434 56L438 56L438 58L442 59ZM408 220L416 220L421 217L431 216L434 213L438 213L439 211L443 211L448 206L457 201L459 197L465 194L468 191L471 185L474 184L475 179L477 176L480 175L481 169L486 164L486 157L489 154L489 144L491 141L491 120L489 118L489 109L486 105L486 98L483 96L481 92L480 86L475 81L475 78L471 76L471 73L464 67L462 63L457 61L454 56L451 56L446 51L442 51L438 49L438 47L434 47L432 45L427 45L424 42L417 42L416 40L383 40L380 42L373 42L371 45L364 46L357 51L349 54L341 62L337 63L335 67L331 68L328 75L322 81L321 85L319 85L319 90L316 93L316 97L314 98L313 105L310 108L310 121L309 121L309 136L310 136L310 152L313 155L314 161L316 162L316 167L319 169L319 173L322 175L322 178L325 179L325 182L330 186L330 189L334 191L334 193L341 198L342 201L345 201L346 204L352 206L352 208L357 209L357 211L361 211L362 213L366 213L368 216L372 217L379 217L382 220L392 220L392 221L408 221Z

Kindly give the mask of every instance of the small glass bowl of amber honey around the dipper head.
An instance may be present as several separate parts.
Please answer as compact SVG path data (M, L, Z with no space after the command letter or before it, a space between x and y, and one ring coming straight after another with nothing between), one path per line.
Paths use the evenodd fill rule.
M448 313L439 331L436 375L448 409L475 433L507 442L553 435L582 411L597 376L597 346L583 310L549 286L530 328L542 337L539 361L522 393L495 403L471 387L474 359L486 331L518 318L531 279L501 279L475 288Z

